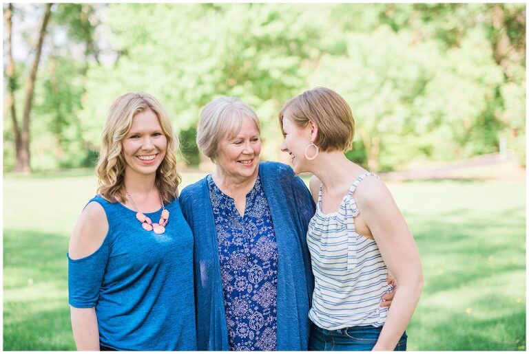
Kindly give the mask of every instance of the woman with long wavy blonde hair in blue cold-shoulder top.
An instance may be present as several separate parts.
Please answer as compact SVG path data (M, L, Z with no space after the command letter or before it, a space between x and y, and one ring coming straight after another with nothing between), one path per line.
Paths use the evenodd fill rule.
M193 235L176 198L177 148L154 97L127 93L110 107L98 195L68 250L79 351L196 350Z

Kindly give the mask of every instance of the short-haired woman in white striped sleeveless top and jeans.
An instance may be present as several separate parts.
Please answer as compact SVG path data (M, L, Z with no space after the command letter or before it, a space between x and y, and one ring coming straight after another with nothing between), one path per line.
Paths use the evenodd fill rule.
M309 350L406 350L423 285L419 252L388 188L344 155L354 135L351 108L318 87L287 102L279 120L294 173L313 173ZM380 306L391 291L388 269L399 285L391 309Z

